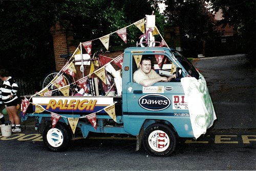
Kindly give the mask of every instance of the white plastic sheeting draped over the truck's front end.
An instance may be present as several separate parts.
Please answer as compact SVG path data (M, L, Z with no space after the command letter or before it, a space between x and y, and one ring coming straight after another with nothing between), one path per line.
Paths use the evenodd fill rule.
M205 134L217 119L206 81L201 74L199 78L199 80L194 77L181 79L195 138Z

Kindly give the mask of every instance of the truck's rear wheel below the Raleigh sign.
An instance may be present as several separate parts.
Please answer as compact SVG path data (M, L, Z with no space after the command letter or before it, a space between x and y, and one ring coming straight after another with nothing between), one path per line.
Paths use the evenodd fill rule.
M53 152L62 152L67 150L71 143L72 134L68 126L58 123L54 128L48 125L42 133L42 140L46 147Z

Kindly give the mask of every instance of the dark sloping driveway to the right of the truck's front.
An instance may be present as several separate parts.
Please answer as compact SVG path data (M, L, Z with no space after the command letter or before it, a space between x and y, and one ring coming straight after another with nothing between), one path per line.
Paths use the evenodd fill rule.
M214 129L255 129L255 68L246 55L193 61L204 76L217 121Z

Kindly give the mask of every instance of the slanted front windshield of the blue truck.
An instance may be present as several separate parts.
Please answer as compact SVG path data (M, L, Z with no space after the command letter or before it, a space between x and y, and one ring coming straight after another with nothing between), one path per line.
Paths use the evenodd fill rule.
M185 58L183 55L181 55L178 51L173 50L171 52L174 54L175 58L177 58L178 61L182 64L182 66L186 69L188 75L191 77L195 77L198 80L199 72L197 71L195 66L193 64L191 64L191 62L189 62L187 60L187 58Z

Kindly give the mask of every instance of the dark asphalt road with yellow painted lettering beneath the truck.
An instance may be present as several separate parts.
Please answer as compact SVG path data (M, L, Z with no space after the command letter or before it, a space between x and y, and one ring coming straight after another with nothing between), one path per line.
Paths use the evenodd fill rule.
M66 152L50 152L39 134L23 131L0 138L0 170L255 170L256 134L215 130L179 139L169 157L135 152L132 137L77 139Z

